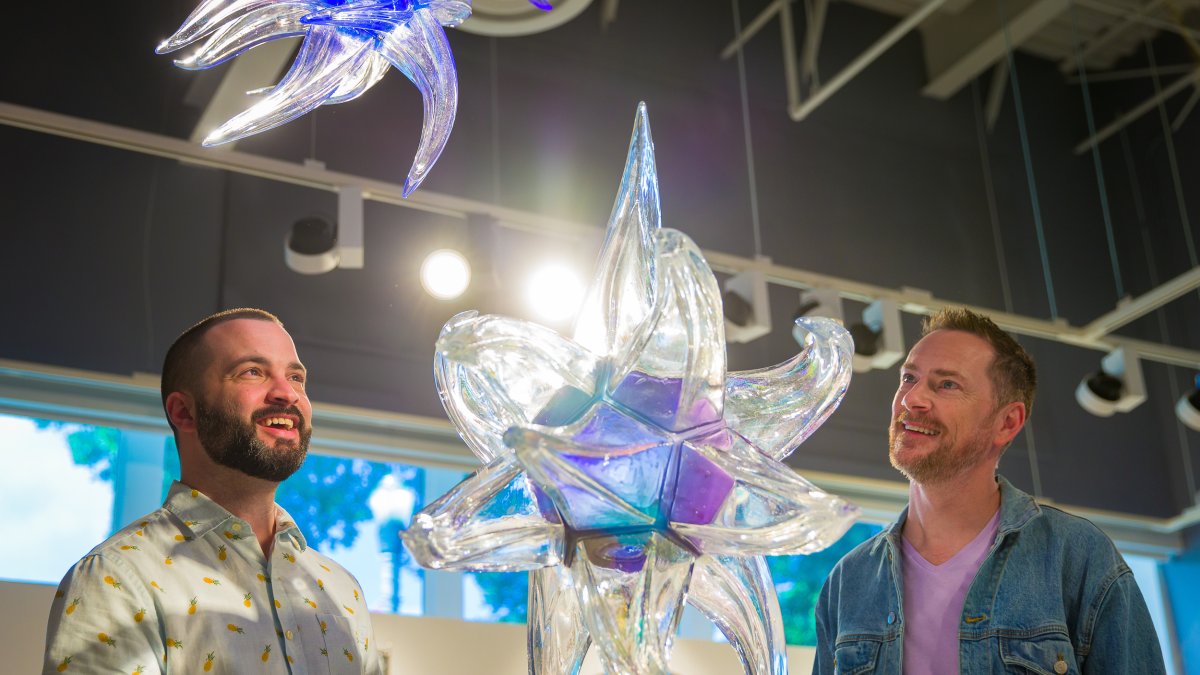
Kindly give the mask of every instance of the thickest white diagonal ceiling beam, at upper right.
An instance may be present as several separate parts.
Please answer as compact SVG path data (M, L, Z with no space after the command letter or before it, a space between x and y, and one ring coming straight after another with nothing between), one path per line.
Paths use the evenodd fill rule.
M994 2L976 2L958 14L938 14L922 26L925 44L926 96L947 100L1008 56L1045 28L1070 0L1009 0L1008 25L1001 23Z

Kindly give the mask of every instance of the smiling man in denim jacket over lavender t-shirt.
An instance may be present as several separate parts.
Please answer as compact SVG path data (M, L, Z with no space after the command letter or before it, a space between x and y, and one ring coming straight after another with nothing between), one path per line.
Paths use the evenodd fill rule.
M926 319L888 428L908 507L826 580L814 673L1164 671L1112 542L996 476L1036 388L1033 360L988 317Z

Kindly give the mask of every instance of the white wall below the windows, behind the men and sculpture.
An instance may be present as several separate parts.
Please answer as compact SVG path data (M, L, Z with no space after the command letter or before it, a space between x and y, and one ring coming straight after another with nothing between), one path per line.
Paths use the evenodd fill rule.
M5 673L38 673L54 586L0 581L0 653ZM388 675L526 675L523 625L472 623L449 619L373 615L376 643L391 655ZM787 650L791 671L812 669L812 650ZM696 640L676 643L674 675L742 673L728 645ZM595 650L581 675L601 675Z

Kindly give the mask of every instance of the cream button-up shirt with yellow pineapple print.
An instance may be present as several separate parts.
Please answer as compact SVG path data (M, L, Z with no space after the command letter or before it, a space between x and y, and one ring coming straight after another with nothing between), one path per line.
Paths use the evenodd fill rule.
M176 482L67 572L43 673L383 673L354 577L278 506L276 532L266 560L246 521Z

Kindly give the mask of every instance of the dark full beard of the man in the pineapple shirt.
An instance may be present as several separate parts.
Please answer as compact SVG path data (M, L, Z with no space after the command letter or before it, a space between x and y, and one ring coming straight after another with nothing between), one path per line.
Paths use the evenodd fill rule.
M269 444L258 437L257 422L264 417L292 414L299 420L299 440L280 438ZM300 468L308 454L312 428L300 408L274 406L257 411L244 422L232 410L196 401L196 431L209 458L246 476L282 483Z

